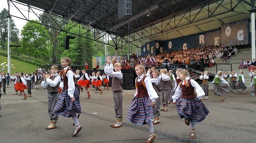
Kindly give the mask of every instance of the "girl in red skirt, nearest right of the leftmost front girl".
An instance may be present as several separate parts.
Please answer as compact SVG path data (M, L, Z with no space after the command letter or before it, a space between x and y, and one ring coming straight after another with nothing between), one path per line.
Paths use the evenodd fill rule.
M83 75L81 76L81 78L77 81L77 84L79 85L81 91L83 92L83 88L85 88L88 97L87 99L89 99L91 97L90 92L88 90L88 88L90 88L90 77L88 77L88 74L86 73L86 70L84 69L82 71Z

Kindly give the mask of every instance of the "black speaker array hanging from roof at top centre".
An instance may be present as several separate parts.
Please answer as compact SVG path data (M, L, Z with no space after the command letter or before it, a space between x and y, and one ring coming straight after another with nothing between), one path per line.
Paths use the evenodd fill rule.
M131 0L118 0L118 19L131 16Z

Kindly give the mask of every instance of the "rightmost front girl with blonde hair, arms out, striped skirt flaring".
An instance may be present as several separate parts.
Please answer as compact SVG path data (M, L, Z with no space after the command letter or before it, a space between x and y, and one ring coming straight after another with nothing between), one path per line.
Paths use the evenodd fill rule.
M185 118L185 124L191 124L190 139L194 139L195 123L203 121L210 111L201 101L203 100L202 96L204 96L203 89L189 77L188 70L182 69L178 76L182 81L172 97L173 104L176 104L180 118ZM194 88L197 96L194 93Z

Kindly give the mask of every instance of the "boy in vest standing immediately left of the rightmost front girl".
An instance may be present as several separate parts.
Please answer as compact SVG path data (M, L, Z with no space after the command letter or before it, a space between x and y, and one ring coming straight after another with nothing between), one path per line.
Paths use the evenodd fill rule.
M161 69L161 94L162 94L162 104L163 108L160 111L168 111L168 96L169 96L169 86L168 82L171 80L170 77L167 76L167 69Z

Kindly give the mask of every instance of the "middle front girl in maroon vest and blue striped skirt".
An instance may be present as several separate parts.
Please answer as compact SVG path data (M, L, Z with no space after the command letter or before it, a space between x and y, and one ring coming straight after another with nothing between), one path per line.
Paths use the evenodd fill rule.
M150 137L145 142L151 143L156 137L151 120L154 117L152 106L156 103L158 95L149 77L144 75L145 71L143 65L135 67L135 72L138 76L135 80L136 93L128 108L127 120L134 124L148 124Z

